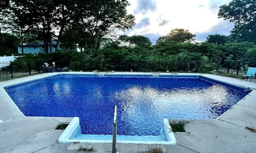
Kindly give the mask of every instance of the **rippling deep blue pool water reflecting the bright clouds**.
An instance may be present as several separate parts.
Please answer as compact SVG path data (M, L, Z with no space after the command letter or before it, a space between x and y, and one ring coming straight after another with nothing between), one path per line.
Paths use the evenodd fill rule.
M215 119L248 92L199 77L57 75L8 88L25 116L79 117L82 134L161 133L163 118Z

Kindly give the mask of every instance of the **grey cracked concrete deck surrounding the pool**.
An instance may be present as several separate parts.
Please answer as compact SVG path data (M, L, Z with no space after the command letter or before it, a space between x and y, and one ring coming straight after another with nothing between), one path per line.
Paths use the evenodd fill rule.
M62 72L63 73L63 72ZM68 72L64 72L68 73ZM81 74L81 72L79 72ZM83 72L82 72L83 73ZM120 73L120 72L118 72ZM43 73L25 78L0 82L0 86L37 79L57 73ZM115 73L111 73L115 74ZM127 72L125 73L127 74ZM152 74L130 73L129 74ZM161 73L170 74L170 73ZM175 73L182 75L198 75L191 73ZM239 79L221 77L213 74L201 74L205 77L256 89L256 83ZM158 146L163 151L184 153L205 152L255 152L256 133L245 129L246 126L256 128L256 90L232 107L217 120L189 120L185 125L187 132L176 132L177 145ZM75 153L82 145L63 144L57 139L63 130L53 130L59 122L70 122L72 118L60 117L24 117L0 88L0 152L4 153ZM172 121L172 120L170 120ZM95 153L111 152L112 144L94 144ZM119 153L144 152L148 145L118 144Z

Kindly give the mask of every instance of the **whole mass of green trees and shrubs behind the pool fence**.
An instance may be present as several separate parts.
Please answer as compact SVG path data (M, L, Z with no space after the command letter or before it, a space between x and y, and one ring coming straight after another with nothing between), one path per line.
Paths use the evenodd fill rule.
M15 53L20 43L43 42L52 57L43 53L21 58L256 62L256 4L252 0L232 0L220 7L219 18L235 24L229 36L210 34L205 42L196 42L196 34L176 28L156 44L143 35L116 33L135 26L134 15L126 10L127 0L8 0L0 4L1 55ZM61 42L65 51L52 53L52 41L57 46Z

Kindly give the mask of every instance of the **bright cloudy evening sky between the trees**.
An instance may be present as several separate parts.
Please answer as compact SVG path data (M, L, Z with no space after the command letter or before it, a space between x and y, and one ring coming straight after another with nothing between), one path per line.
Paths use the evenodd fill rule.
M234 24L218 19L219 6L231 0L128 0L127 13L136 18L132 30L118 34L143 35L155 44L172 29L181 28L205 41L209 34L229 35Z

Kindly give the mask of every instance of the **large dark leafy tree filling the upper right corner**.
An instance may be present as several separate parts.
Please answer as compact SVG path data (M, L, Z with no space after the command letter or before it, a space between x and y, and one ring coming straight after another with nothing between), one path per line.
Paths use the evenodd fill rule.
M218 18L235 24L231 37L237 41L256 44L256 3L255 0L232 0L219 7Z

